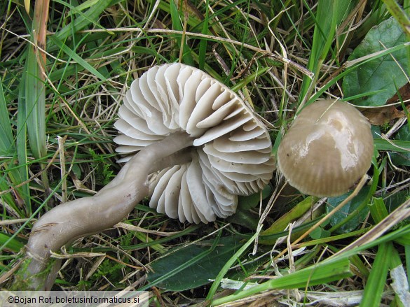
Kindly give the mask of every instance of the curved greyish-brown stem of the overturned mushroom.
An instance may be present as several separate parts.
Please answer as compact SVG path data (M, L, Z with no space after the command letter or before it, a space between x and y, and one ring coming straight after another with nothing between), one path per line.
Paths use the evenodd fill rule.
M46 269L50 252L88 234L94 234L123 220L149 195L148 176L160 169L189 162L193 144L189 134L176 132L140 150L123 166L116 178L93 197L68 201L48 211L34 224L27 243L27 287L50 290L53 276L39 274ZM53 268L52 271L57 271Z

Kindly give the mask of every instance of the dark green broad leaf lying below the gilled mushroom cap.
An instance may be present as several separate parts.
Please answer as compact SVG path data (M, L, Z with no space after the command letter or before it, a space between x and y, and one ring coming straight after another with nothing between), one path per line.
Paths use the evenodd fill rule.
M213 247L212 245L216 243ZM171 291L184 291L210 283L221 268L240 248L238 236L219 238L217 241L201 241L198 245L189 245L151 264L153 273L148 274L150 283L158 278L169 277L156 284ZM171 274L170 274L171 272Z

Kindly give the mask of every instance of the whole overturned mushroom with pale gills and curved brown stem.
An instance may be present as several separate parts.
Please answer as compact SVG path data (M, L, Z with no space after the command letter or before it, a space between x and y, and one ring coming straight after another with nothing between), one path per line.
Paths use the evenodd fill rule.
M191 66L153 66L132 83L118 115L114 141L128 155L125 166L93 197L57 206L34 224L28 288L53 285L55 269L39 274L50 252L112 227L144 197L159 213L206 223L235 213L238 195L258 192L272 177L264 124L237 94Z

